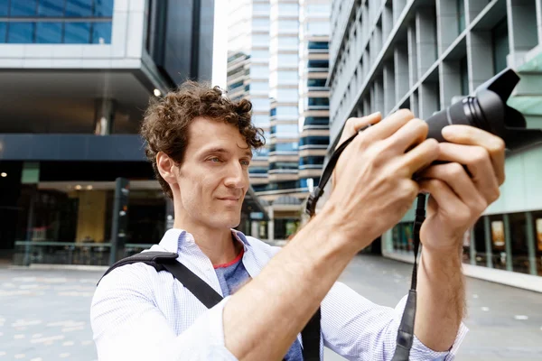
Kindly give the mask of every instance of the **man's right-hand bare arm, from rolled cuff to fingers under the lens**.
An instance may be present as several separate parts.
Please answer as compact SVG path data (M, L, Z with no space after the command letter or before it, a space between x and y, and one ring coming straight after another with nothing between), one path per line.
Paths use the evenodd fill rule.
M427 347L452 347L465 292L461 253L463 235L499 198L504 182L504 142L481 129L451 125L443 130L438 160L420 174L420 188L430 193L423 244L415 334Z

